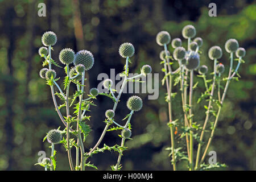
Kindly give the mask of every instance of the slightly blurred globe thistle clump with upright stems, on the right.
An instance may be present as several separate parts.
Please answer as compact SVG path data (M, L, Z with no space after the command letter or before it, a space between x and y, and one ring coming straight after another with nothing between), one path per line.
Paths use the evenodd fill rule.
M188 159L188 169L189 170L201 170L204 167L210 166L210 164L205 164L205 156L207 156L207 152L210 146L210 143L212 142L214 131L216 130L217 122L220 116L220 112L222 109L222 104L225 100L225 96L228 90L228 86L230 84L230 81L233 80L234 76L238 72L238 68L240 67L241 63L244 63L245 61L242 60L242 57L245 56L245 49L238 48L239 44L236 39L229 39L225 43L225 49L228 53L230 53L230 68L228 77L224 77L224 65L218 63L219 59L222 57L222 49L220 46L213 46L209 48L208 51L208 57L210 60L213 60L211 62L206 60L207 64L213 65L213 73L208 73L208 67L207 65L201 65L200 66L200 56L203 54L202 51L199 51L200 47L203 47L203 39L200 37L194 38L196 36L196 28L192 25L187 25L183 28L181 31L183 38L187 39L187 49L184 47L181 47L181 40L174 39L172 40L172 47L175 48L171 56L166 56L166 53L168 55L171 55L171 53L168 51L166 44L168 44L167 41L160 42L159 38L162 38L159 35L168 35L168 37L171 38L170 34L168 32L160 31L156 35L156 43L159 44L159 46L163 46L164 44L164 50L160 52L160 59L162 60L160 64L163 64L163 72L164 77L162 80L162 85L166 84L167 93L166 93L166 102L168 103L168 127L170 128L170 134L171 134L171 147L170 147L170 155L172 157L172 167L174 170L177 170L177 163L180 162L180 160ZM166 36L167 37L167 36ZM166 39L164 39L166 40ZM175 40L179 40L176 44ZM202 49L203 50L203 49ZM233 54L236 53L236 56L238 57L238 64L235 69L233 68ZM173 62L171 62L169 59L171 59ZM177 61L174 61L177 60ZM176 65L175 65L176 64ZM174 68L176 67L176 70ZM195 69L198 69L199 74L196 75L199 78L203 78L204 87L205 90L203 93L201 93L201 96L198 98L196 104L199 105L201 101L205 101L208 104L204 105L203 108L206 109L205 113L205 119L204 122L201 123L200 119L196 114L193 114L193 112L201 112L201 109L199 111L194 111L196 108L200 108L200 106L195 106L195 103L193 102L195 100L195 96L193 97L193 92L196 92L197 90L197 83L194 85L194 71ZM212 77L212 78L208 78ZM174 81L173 81L174 80ZM226 82L224 90L222 91L221 86L222 82ZM210 85L209 85L210 84ZM179 89L175 89L175 86L179 85ZM199 85L199 84L198 84ZM176 90L176 93L173 93L173 90ZM204 88L203 88L204 89ZM201 90L201 89L200 89ZM217 91L216 91L217 90ZM218 92L217 94L214 94L214 91ZM175 106L173 105L174 99L176 99L176 94L179 94L181 96L181 105L183 110L184 118L182 121L184 122L182 127L180 127L180 118L174 118L175 115L172 115L174 112L172 109L174 107L177 107L177 101L175 102ZM196 94L198 96L199 94ZM222 95L222 96L221 96ZM217 97L217 98L215 98ZM129 109L131 109L131 104L127 102L127 106ZM217 108L217 109L216 109ZM214 115L214 117L210 117L210 114ZM195 119L194 119L195 118ZM213 121L211 121L214 119ZM210 125L210 123L213 123ZM196 127L195 127L196 126ZM184 131L185 128L185 131ZM205 140L204 133L206 130L210 131L210 136L207 140ZM182 135L184 137L177 138L175 135L180 132L179 135ZM200 137L199 137L200 136ZM195 140L195 138L198 138ZM186 149L183 150L183 147L180 146L181 140L184 139L184 142L186 144ZM195 144L197 144L197 150L195 150ZM177 146L176 146L177 145ZM204 147L203 147L204 146ZM185 155L181 155L181 157L177 156L175 154L175 151L179 149L180 152L184 152ZM202 148L204 148L204 151L202 152Z

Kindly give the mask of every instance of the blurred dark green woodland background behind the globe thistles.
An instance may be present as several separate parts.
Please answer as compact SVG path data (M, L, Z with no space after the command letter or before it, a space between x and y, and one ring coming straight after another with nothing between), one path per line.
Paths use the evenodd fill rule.
M40 2L46 3L46 17L38 16ZM208 15L210 2L217 5L217 17ZM58 63L59 52L65 47L74 51L88 49L93 53L96 61L86 75L88 92L100 82L97 80L99 73L110 74L110 68L115 68L115 73L122 71L125 60L118 55L118 48L123 42L131 42L135 47L130 71L140 72L143 64L150 64L153 73L160 73L161 80L159 52L163 47L156 44L155 36L166 30L172 39L182 38L181 30L187 24L193 24L197 36L204 40L201 64L208 65L210 71L212 61L207 53L211 46L218 45L224 51L225 41L236 38L246 49L246 63L239 69L241 81L232 81L229 86L210 150L217 152L217 161L227 164L228 170L256 169L255 1L0 0L0 15L0 170L43 170L34 164L39 151L50 155L49 144L42 142L44 136L50 129L59 126L64 129L55 112L49 86L39 77L42 58L38 48L42 46L43 32L51 30L57 34L58 41L52 54ZM172 51L171 46L169 49ZM229 61L225 51L221 61L227 68ZM63 69L56 68L56 71L63 80ZM200 83L195 91L195 101L204 89L203 82L198 78L196 81ZM176 88L175 91L179 90ZM133 140L126 143L129 150L124 152L121 161L123 169L172 169L165 150L170 146L165 92L166 87L159 82L158 100L147 100L147 94L139 94L144 105L132 117ZM122 95L118 118L129 112L126 109L129 96L131 94ZM176 118L181 117L178 96L174 101ZM113 102L103 96L98 97L96 104L97 107L91 107L92 118L88 123L93 131L86 140L86 151L97 142L105 126L102 122L105 110L113 106ZM204 119L201 111L204 104L195 106L199 123ZM107 133L101 146L103 143L109 146L120 144L118 134L119 131ZM56 150L57 169L69 169L64 147L56 145ZM106 170L116 163L117 157L117 153L106 151L94 155L91 163ZM184 169L182 165L178 168Z

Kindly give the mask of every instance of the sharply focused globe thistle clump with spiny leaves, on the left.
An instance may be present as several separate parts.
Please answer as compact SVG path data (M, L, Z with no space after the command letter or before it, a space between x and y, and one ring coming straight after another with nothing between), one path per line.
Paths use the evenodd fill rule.
M71 48L64 48L59 53L60 63L65 64L63 90L57 83L60 78L56 78L56 71L52 68L53 66L60 67L57 61L53 60L51 53L53 51L52 46L54 46L56 42L57 36L55 33L49 31L43 34L42 43L47 47L39 48L38 53L41 57L44 58L43 67L47 66L48 68L42 68L39 72L39 75L42 78L46 78L46 84L51 88L51 97L55 106L55 110L57 111L61 122L64 124L65 129L53 129L47 133L44 140L47 139L47 141L51 143L51 158L45 158L41 163L38 164L43 166L46 170L48 168L51 169L51 171L56 170L56 151L54 147L55 144L61 143L65 147L65 150L67 150L69 167L72 171L84 171L86 166L91 167L92 165L88 165L90 162L86 163L86 161L89 160L89 158L94 154L97 154L98 152L104 152L105 150L109 150L109 148L111 148L111 150L118 151L119 153L117 165L111 166L113 170L119 170L121 168L120 162L123 150L119 150L118 145L109 147L104 144L104 148L98 148L98 146L102 139L105 137L107 131L125 130L125 132L123 132L125 137L120 135L122 142L121 146L119 147L126 148L124 146L125 139L131 137L131 117L134 114L134 111L138 111L142 108L142 100L140 97L134 96L133 101L131 101L131 103L129 102L129 106L133 110L126 109L129 111L129 113L127 113L123 119L123 121L126 120L126 124L124 126L118 124L118 121L114 118L115 110L117 109L121 94L127 82L139 81L138 78L151 73L152 68L150 65L143 65L141 68L141 74L134 77L129 77L129 63L131 62L130 57L134 55L135 49L133 44L123 43L119 47L119 54L121 57L126 58L126 64L124 65L125 71L122 73L125 80L122 83L122 87L121 90L119 90L118 96L115 96L114 94L114 89L112 89L112 86L114 86L113 81L110 79L106 79L103 82L103 86L107 89L108 92L110 92L109 94L100 93L97 88L89 89L89 93L85 94L85 72L89 71L89 69L91 69L94 65L93 54L87 50L81 50L75 54ZM75 85L75 88L71 89L73 84ZM69 93L71 90L74 90L73 94ZM91 131L89 126L90 115L88 115L88 113L90 112L89 109L91 106L96 106L93 100L96 100L99 96L107 96L108 98L111 98L111 100L114 101L114 106L113 109L106 110L105 114L102 114L104 117L106 117L104 121L106 126L95 146L86 152L84 142ZM59 101L63 103L57 103L59 101L57 101L56 97L59 97ZM63 114L63 110L60 110L62 107L65 107L66 115ZM117 127L108 129L112 125ZM75 161L73 161L74 154L72 155L72 147L76 148Z

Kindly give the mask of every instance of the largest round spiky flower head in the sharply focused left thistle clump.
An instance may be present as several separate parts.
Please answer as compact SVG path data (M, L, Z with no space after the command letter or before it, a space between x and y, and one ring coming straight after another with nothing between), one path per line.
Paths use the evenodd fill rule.
M93 67L93 64L94 64L94 57L92 52L87 50L82 50L77 52L74 63L75 65L82 64L84 65L84 68L86 71L89 70L90 68Z

